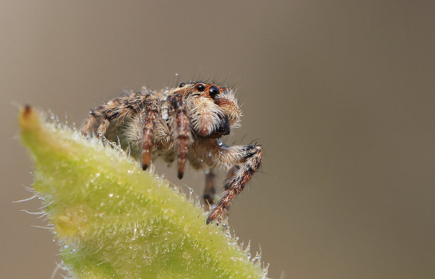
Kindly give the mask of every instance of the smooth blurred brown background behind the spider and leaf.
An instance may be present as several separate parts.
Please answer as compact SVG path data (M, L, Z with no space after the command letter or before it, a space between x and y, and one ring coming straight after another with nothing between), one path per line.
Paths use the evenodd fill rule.
M12 203L33 181L15 103L81 124L123 89L208 78L243 103L227 143L264 146L230 221L270 277L435 278L434 15L434 1L0 1L1 278L60 261L20 212L39 201ZM157 172L203 190L202 173Z

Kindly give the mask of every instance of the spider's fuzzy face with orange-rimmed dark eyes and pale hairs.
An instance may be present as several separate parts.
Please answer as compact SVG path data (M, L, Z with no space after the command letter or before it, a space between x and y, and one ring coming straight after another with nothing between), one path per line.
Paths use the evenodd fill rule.
M193 131L200 137L220 138L230 134L240 120L234 92L208 82L183 82L182 92Z

